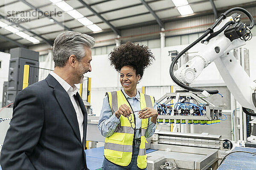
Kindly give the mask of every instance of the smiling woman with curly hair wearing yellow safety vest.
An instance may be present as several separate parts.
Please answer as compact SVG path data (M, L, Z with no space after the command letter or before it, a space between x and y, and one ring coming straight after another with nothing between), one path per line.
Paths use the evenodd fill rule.
M158 113L154 97L140 93L137 84L154 56L147 46L126 42L109 59L122 89L107 92L103 100L98 124L105 136L102 170L146 170L145 138L154 134Z

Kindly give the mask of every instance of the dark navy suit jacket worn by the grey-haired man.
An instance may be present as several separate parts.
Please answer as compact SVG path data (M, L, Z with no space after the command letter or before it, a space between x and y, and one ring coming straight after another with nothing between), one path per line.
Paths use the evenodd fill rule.
M30 85L15 98L13 118L1 153L3 170L87 170L76 111L70 97L51 75Z

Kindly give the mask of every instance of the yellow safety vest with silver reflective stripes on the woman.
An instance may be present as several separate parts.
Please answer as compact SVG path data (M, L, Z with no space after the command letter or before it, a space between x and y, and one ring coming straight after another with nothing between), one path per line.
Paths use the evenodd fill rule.
M108 92L108 102L113 113L118 110L118 108L126 104L131 108L130 103L126 99L122 91ZM154 97L140 93L140 108L153 108ZM132 109L132 108L131 108ZM135 115L131 114L131 122L135 123ZM142 119L141 121L141 142L139 155L137 157L137 166L140 169L147 167L147 155L145 149L145 143L148 143L145 139L145 132L148 126L148 119ZM128 166L131 163L132 153L133 153L133 141L135 136L135 130L131 127L131 123L125 116L120 116L120 123L117 125L114 133L105 138L104 156L108 161L113 164L120 166Z

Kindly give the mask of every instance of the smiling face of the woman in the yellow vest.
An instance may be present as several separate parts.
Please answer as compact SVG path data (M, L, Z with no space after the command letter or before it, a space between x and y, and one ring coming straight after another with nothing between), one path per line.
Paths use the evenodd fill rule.
M140 74L136 75L136 71L131 66L123 66L120 70L120 83L125 91L136 91L137 82L140 80Z

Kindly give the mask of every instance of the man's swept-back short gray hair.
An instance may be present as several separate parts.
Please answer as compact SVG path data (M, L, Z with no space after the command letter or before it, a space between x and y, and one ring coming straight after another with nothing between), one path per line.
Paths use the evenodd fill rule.
M85 56L84 47L92 48L95 44L93 37L80 32L67 31L54 40L52 55L55 67L64 67L70 55L75 55L78 61Z

